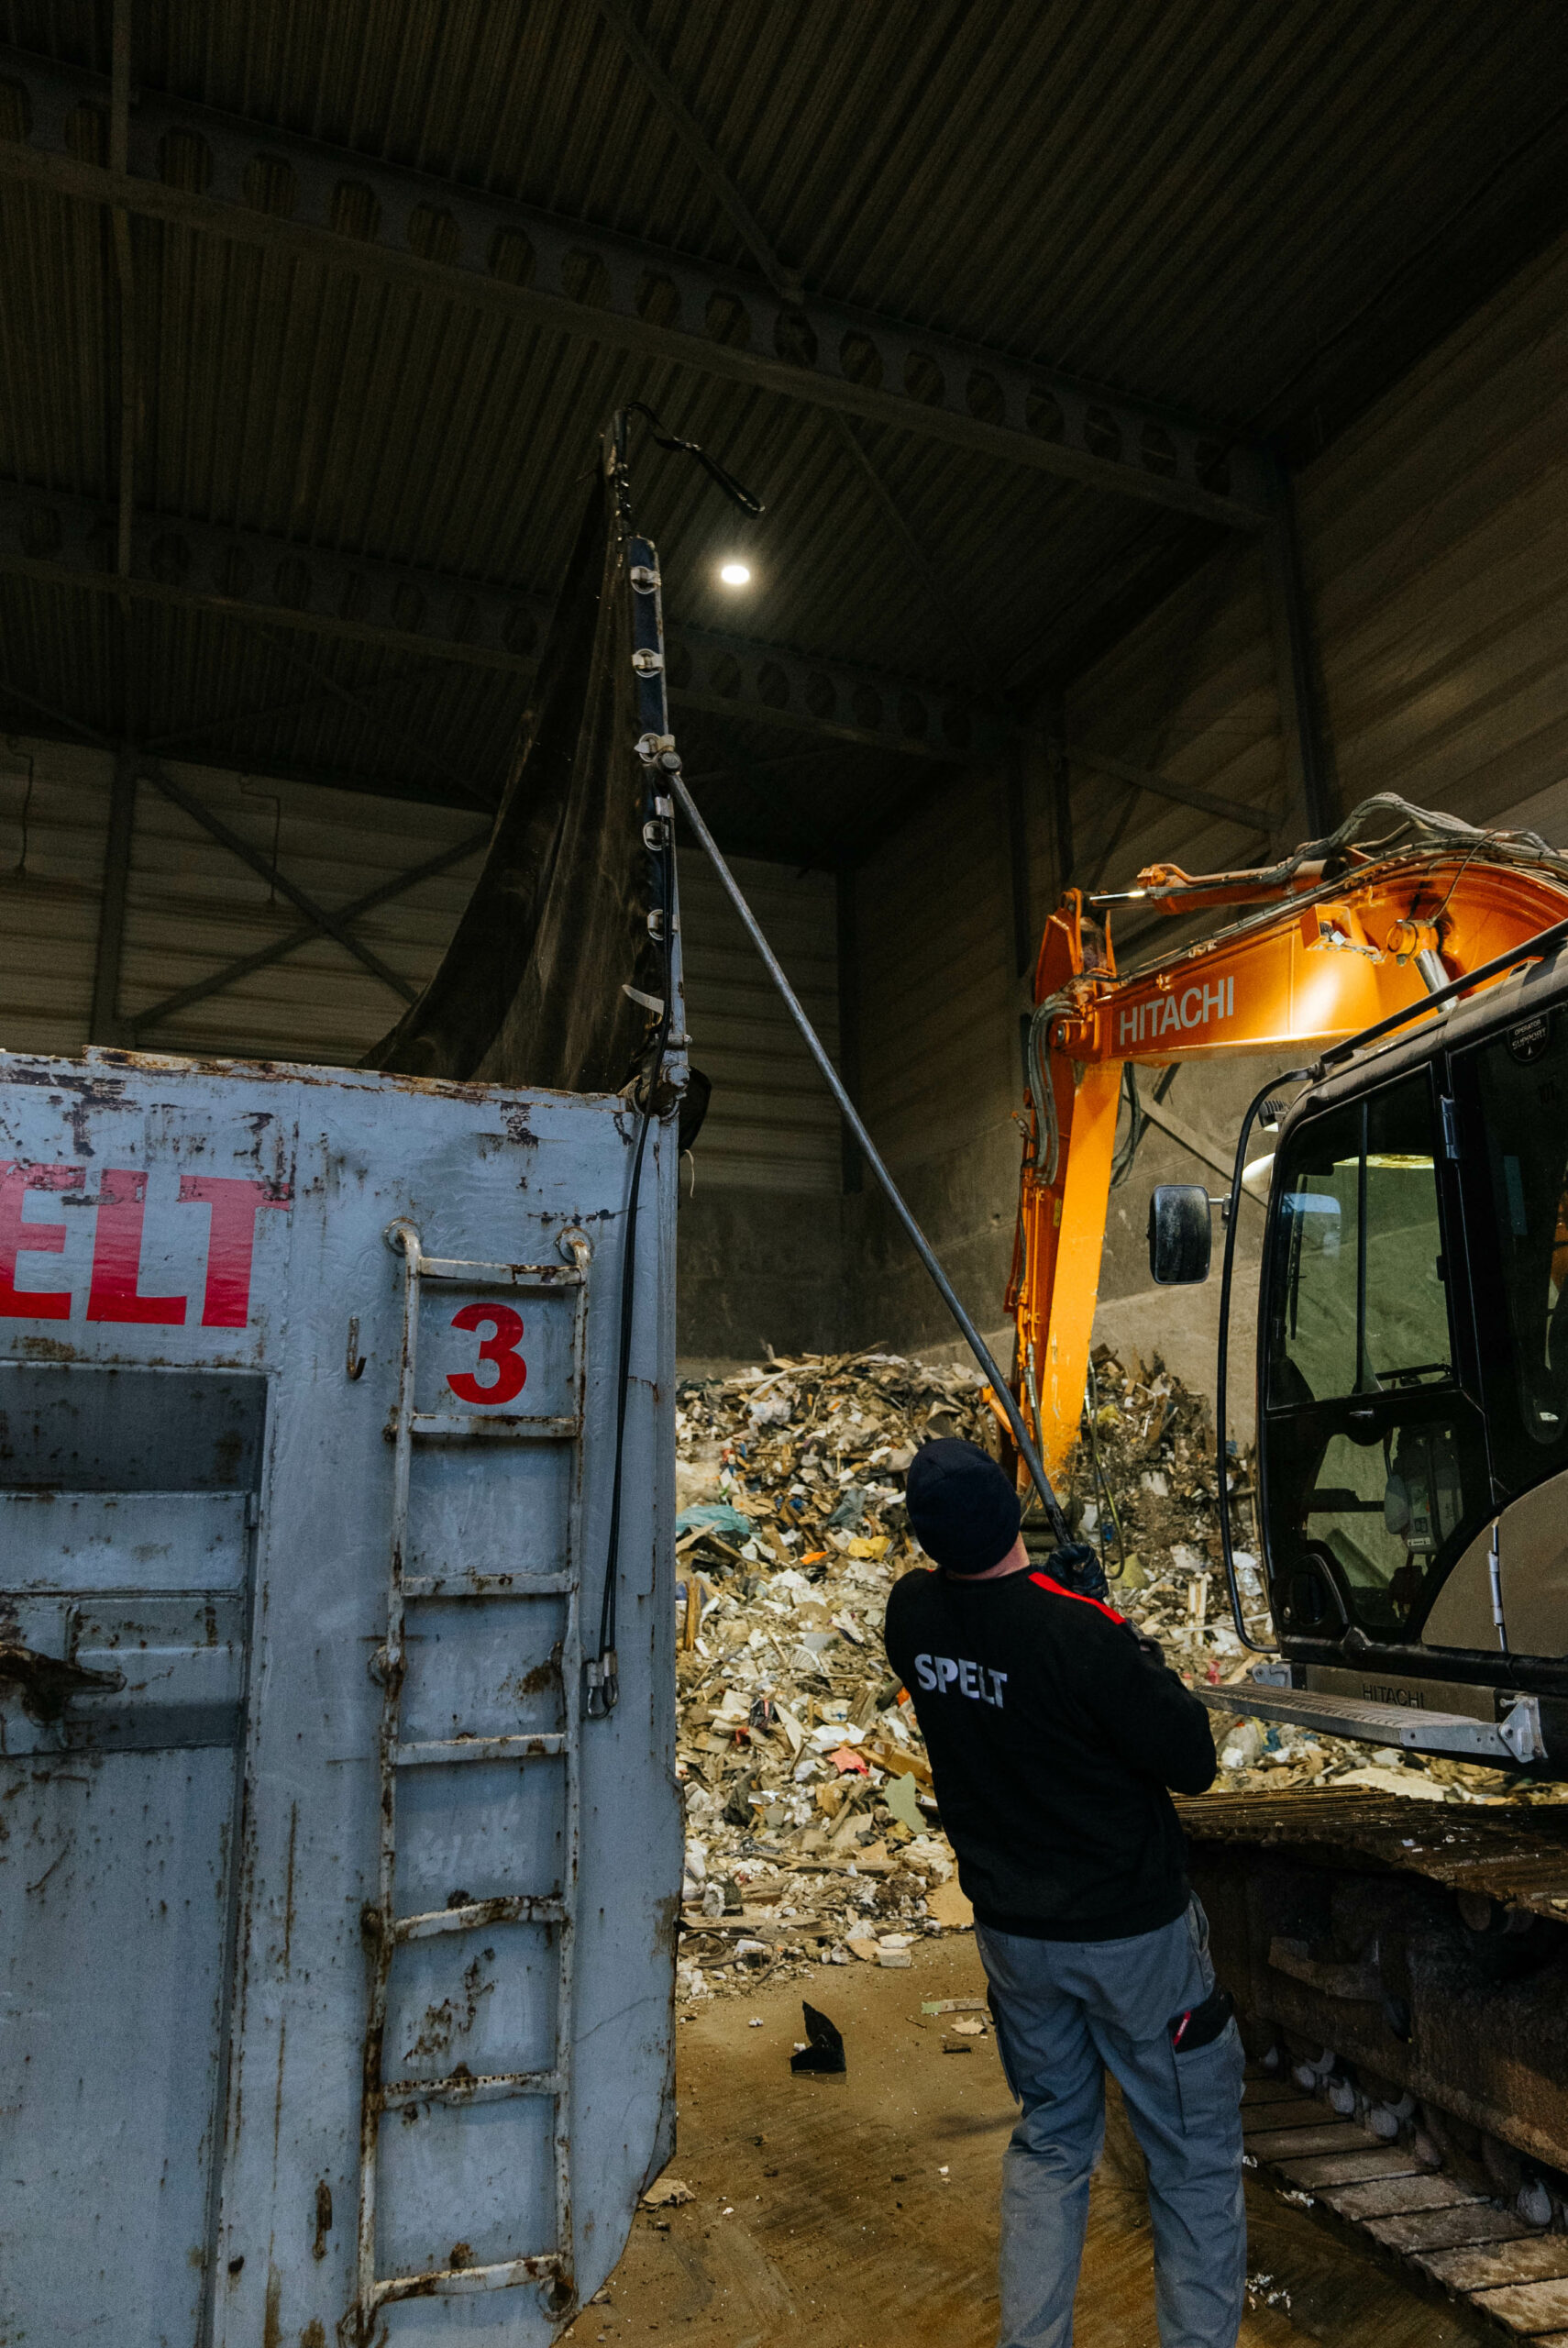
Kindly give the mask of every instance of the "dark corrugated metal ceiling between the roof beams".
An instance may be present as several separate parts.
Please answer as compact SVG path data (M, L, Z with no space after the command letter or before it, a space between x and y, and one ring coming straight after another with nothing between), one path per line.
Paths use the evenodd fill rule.
M1235 427L1376 312L1568 101L1552 0L638 0L636 19L812 294ZM96 73L108 33L106 0L0 5L9 45ZM592 0L136 0L134 75L753 275ZM638 456L676 625L976 688L1028 679L1096 582L1192 528L859 425L922 566L822 409L298 254L131 230L146 512L549 592L594 434L643 397L768 498L742 528L688 465ZM108 502L106 223L7 185L0 235L0 477ZM711 585L728 547L756 564L744 613ZM106 735L200 726L200 754L237 765L488 801L526 704L516 676L284 643L244 615L127 620L113 596L16 578L0 615L5 669L40 702ZM343 704L378 683L373 718ZM683 740L697 768L803 749L702 716ZM763 772L789 775L786 815ZM737 843L789 855L805 829L826 850L847 812L871 819L913 782L908 761L836 749L758 770L749 794L721 784L716 808Z

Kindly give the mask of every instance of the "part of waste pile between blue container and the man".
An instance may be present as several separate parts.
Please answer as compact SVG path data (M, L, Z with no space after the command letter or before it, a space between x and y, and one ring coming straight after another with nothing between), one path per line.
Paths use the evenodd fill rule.
M918 1561L904 1470L995 1425L969 1371L800 1355L676 1397L688 1998L817 1963L908 1965L969 1909L883 1655Z

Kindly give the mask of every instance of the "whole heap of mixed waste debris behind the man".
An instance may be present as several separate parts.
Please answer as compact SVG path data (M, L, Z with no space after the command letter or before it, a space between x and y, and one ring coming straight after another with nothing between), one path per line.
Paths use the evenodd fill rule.
M883 1608L922 1564L904 1472L939 1435L998 1449L967 1367L885 1352L798 1355L676 1397L678 1770L685 1794L681 1996L737 1991L822 1963L908 1965L920 1935L972 1916L932 1799L908 1695L883 1655ZM1251 1456L1228 1465L1242 1599L1268 1627ZM1225 1604L1207 1404L1157 1359L1099 1348L1063 1493L1096 1543L1113 1604L1190 1681L1249 1655ZM1251 1622L1249 1622L1251 1627ZM1368 1752L1216 1716L1216 1789L1364 1784L1437 1801L1528 1799L1500 1770Z

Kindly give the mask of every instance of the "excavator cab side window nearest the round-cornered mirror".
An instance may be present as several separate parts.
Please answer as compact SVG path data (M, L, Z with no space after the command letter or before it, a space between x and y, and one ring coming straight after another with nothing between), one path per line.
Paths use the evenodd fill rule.
M1263 1437L1286 1627L1408 1637L1486 1496L1427 1071L1310 1118L1279 1153Z

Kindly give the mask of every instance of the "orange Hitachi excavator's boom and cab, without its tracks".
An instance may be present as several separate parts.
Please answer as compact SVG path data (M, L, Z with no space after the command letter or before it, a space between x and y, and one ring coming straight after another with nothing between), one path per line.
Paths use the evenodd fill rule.
M1204 920L1117 970L1113 923ZM1258 871L1068 890L1035 970L1007 1308L1047 1472L1077 1442L1122 1111L1138 1068L1298 1066L1251 1104L1225 1200L1162 1186L1150 1273L1209 1273L1223 1564L1261 1653L1216 1709L1568 1775L1568 857L1368 798ZM1249 1165L1253 1122L1272 1151ZM1275 1641L1225 1500L1242 1186L1268 1183L1258 1531Z

